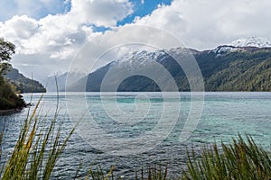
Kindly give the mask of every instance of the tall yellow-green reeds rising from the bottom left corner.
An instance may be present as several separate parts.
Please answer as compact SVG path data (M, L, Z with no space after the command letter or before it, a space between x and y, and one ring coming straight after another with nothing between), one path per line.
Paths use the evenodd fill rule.
M74 127L66 138L61 139L61 125L56 127L58 107L51 120L47 120L46 116L42 119L38 112L41 101L42 97L23 121L14 150L1 171L3 180L50 179L54 166L75 130ZM50 125L44 126L48 121Z

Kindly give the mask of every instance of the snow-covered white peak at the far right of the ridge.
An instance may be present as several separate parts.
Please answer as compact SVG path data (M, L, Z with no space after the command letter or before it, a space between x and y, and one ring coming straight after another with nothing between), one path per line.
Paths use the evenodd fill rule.
M271 40L269 40L268 38L251 37L248 39L234 40L229 44L229 46L270 48Z

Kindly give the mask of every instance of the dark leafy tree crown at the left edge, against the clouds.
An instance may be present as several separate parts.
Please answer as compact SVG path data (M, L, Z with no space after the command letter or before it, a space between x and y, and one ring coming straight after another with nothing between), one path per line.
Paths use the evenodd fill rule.
M11 69L10 59L15 53L15 45L0 38L0 76Z

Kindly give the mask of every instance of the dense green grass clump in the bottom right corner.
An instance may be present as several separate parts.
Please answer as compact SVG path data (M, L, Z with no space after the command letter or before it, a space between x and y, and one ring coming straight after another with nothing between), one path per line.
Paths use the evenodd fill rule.
M247 135L240 135L230 144L215 143L212 148L203 148L201 156L194 150L188 152L187 169L182 179L271 179L270 152L257 146Z

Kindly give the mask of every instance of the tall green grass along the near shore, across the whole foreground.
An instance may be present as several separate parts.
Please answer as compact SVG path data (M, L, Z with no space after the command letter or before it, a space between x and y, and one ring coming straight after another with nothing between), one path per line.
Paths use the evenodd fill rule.
M61 137L61 126L56 127L58 106L54 117L48 120L39 116L39 105L42 98L28 112L23 122L20 136L14 150L2 167L1 179L51 179L52 172L66 147L75 128L70 130L67 137ZM50 122L48 126L47 123ZM47 125L47 126L46 126ZM0 145L3 133L0 133ZM0 150L1 157L1 150ZM90 163L90 162L89 162ZM82 166L82 165L81 165ZM89 168L89 172L79 175L81 166L78 167L74 177L76 179L126 179L126 176L114 175L114 166L104 171L101 166ZM180 167L176 179L271 179L271 155L269 151L260 148L254 140L247 136L243 139L233 139L231 143L215 143L211 147L202 148L201 152L188 150L187 166ZM178 177L179 176L179 177ZM167 166L150 166L135 172L136 180L165 180L171 179Z

